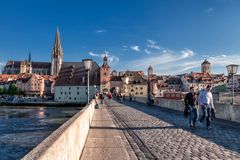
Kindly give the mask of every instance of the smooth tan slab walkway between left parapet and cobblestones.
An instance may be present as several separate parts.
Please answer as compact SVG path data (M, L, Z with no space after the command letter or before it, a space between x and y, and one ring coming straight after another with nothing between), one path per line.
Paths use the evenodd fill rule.
M96 109L94 112L81 159L129 160L127 146L124 145L118 129L113 124L107 109L101 105L100 109ZM132 154L131 157L133 157Z

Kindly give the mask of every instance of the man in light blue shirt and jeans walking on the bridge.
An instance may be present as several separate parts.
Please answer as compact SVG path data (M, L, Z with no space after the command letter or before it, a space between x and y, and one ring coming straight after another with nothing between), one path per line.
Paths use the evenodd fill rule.
M216 113L216 110L213 105L213 96L211 93L211 86L208 85L206 90L202 90L200 92L199 98L198 98L199 104L202 109L202 116L199 119L199 121L202 123L204 119L206 119L206 127L207 129L211 129L211 112L213 111Z

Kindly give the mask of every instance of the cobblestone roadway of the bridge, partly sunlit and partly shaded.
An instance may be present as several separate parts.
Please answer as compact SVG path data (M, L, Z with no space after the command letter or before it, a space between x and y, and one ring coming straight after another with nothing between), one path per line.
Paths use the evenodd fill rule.
M111 102L107 107L138 159L239 159L240 129L205 124L189 129L182 114L143 103Z

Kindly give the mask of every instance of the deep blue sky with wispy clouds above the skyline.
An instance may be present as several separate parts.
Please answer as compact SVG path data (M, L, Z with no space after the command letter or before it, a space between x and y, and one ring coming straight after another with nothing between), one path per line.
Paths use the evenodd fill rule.
M57 26L64 61L105 51L116 70L213 73L240 64L238 0L0 1L0 68L8 60L50 61Z

